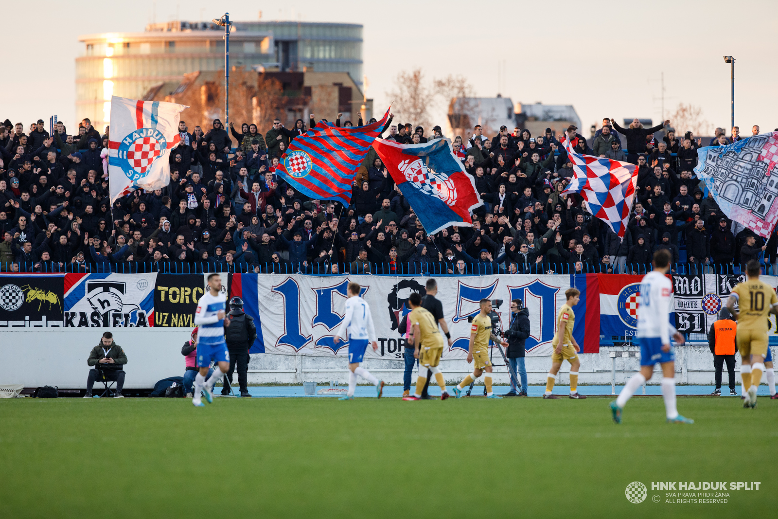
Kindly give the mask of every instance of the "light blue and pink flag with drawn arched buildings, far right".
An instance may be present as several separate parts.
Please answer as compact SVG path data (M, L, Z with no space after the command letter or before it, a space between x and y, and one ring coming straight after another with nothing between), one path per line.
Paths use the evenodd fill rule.
M722 212L768 238L778 220L778 132L697 150L694 172Z

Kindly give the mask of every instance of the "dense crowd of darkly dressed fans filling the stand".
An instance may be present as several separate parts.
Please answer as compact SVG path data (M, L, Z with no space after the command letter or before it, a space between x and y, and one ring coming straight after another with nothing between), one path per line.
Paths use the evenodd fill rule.
M264 135L256 124L238 131L215 119L204 132L181 121L170 184L113 204L110 128L100 135L85 119L76 132L58 123L49 135L43 120L26 133L22 123L6 120L0 126L0 270L645 272L660 248L671 251L674 268L776 262L776 233L767 243L750 230L734 236L731 220L703 195L693 173L696 149L742 139L738 128L729 136L717 128L703 143L691 132L677 135L670 122L643 128L636 119L622 128L606 118L588 140L568 128L580 153L638 166L629 231L620 240L586 211L579 195L562 194L573 167L550 128L533 136L503 126L490 137L475 126L464 139L449 138L485 205L475 210L474 226L429 235L372 148L356 174L350 205L311 199L286 184L275 168L289 143L306 132L301 119L291 130L275 119ZM308 126L316 124L311 114ZM391 119L383 135L401 143L446 138L438 126L428 134Z

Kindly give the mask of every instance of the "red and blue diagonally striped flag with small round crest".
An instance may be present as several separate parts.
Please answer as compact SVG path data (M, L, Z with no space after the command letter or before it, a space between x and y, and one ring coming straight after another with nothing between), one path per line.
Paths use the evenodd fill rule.
M389 110L373 124L345 128L318 123L294 138L275 171L310 198L340 200L348 205L356 171L387 117Z

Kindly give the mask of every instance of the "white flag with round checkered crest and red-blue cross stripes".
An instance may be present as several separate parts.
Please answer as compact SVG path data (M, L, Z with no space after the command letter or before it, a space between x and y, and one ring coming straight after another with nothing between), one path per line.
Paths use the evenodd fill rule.
M134 189L170 182L170 151L178 145L183 104L112 96L108 143L110 202Z

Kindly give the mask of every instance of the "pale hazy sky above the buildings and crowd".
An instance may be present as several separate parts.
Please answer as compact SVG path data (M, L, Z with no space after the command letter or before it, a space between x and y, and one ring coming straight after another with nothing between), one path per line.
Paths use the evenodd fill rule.
M0 120L58 114L75 127L75 58L81 34L140 32L166 22L218 18L361 23L363 72L376 113L390 102L398 72L421 68L426 79L464 75L477 96L501 93L513 103L572 104L583 128L603 117L661 120L678 103L728 127L730 65L735 61L735 124L750 135L778 127L778 7L762 0L710 2L264 2L135 0L75 9L72 2L5 2L7 54L0 81ZM745 4L744 4L745 5ZM267 8L267 9L265 9ZM498 82L500 64L503 80ZM433 121L444 126L444 107ZM330 117L333 117L331 114ZM321 117L327 117L321 114ZM746 131L748 128L748 131Z

